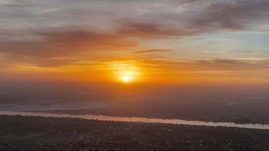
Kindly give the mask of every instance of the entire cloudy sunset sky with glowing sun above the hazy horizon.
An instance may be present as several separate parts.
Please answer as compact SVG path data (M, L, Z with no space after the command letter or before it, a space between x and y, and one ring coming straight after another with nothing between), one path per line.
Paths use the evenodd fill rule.
M269 0L0 0L0 80L269 83Z

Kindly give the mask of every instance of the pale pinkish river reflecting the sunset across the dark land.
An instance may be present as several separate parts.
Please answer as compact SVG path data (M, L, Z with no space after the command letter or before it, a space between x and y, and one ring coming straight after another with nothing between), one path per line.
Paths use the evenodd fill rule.
M177 119L155 119L141 117L119 117L119 116L103 116L103 115L72 115L57 113L41 113L41 112L14 112L0 111L0 115L22 115L22 116L42 116L42 117L70 117L83 119L97 119L104 121L127 121L127 122L146 122L146 123L169 123L169 124L186 124L186 125L205 125L205 126L225 126L252 129L269 129L269 125L263 124L235 124L229 122L202 122L202 121L186 121Z

